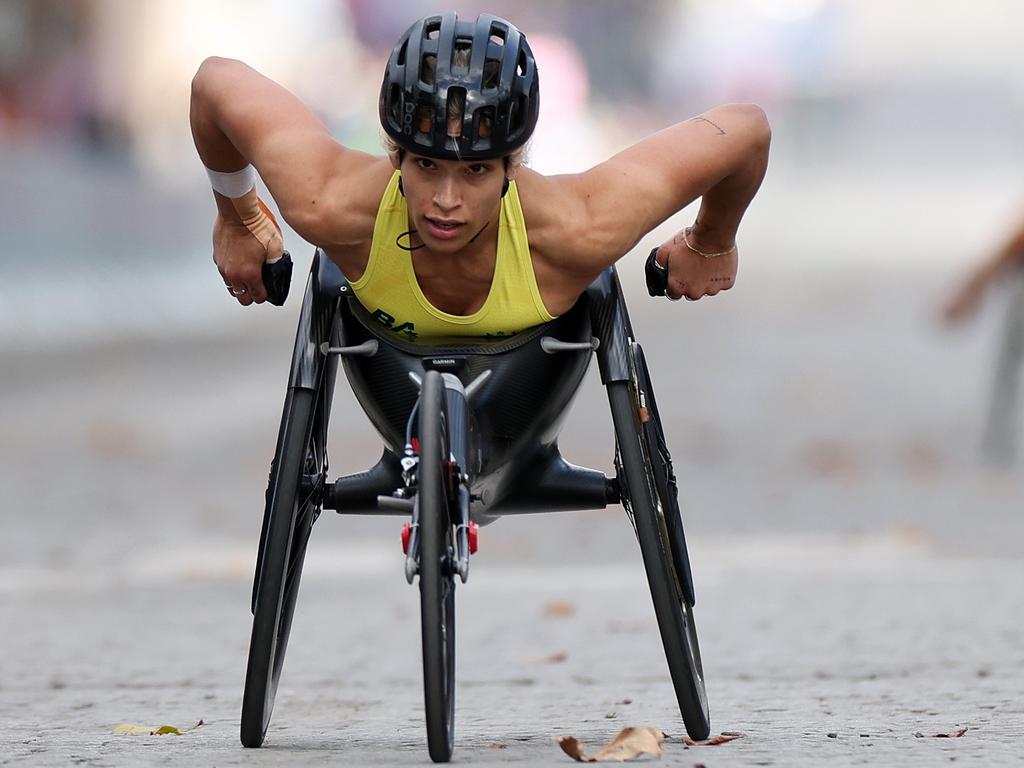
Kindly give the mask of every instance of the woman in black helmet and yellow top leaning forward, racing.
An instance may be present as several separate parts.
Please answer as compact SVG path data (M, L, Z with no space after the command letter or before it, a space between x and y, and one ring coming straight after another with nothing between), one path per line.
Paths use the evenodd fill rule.
M257 173L364 306L409 337L505 335L550 321L697 198L692 226L656 252L667 295L696 300L734 285L736 231L768 163L761 109L717 106L583 173L545 176L522 164L539 97L538 65L512 24L427 16L387 63L387 152L374 157L342 146L298 98L241 61L206 59L190 122L229 293L243 305L265 301L262 265L283 252Z

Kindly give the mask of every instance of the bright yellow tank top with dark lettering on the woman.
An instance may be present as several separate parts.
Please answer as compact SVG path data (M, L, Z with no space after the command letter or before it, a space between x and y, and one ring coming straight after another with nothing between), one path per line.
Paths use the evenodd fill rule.
M407 339L421 336L511 336L554 319L541 300L529 256L519 191L509 183L502 198L498 256L486 301L472 314L449 314L423 295L413 256L396 241L409 229L409 209L395 171L384 190L367 270L351 284L359 303L385 328ZM404 242L408 244L408 237Z

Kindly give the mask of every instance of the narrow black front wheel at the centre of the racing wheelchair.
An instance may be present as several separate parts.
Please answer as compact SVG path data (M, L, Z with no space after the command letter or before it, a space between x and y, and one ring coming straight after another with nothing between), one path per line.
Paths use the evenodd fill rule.
M420 399L420 614L427 750L435 763L452 759L455 742L455 578L452 567L452 485L444 383L431 371Z

